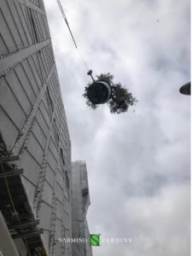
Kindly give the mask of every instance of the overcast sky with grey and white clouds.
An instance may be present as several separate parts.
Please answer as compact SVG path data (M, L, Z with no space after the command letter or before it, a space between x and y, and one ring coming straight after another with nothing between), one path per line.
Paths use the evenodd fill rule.
M45 0L72 140L86 160L90 233L131 237L94 256L189 255L189 0L61 0L94 75L137 97L127 113L84 104L89 82L56 0Z

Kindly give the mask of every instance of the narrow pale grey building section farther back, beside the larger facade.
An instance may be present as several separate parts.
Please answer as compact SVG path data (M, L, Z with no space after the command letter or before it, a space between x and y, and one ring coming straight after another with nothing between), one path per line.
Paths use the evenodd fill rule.
M90 192L87 170L84 161L72 163L72 236L73 239L86 239L87 242L74 242L73 256L92 256L89 242L89 227L86 214L90 206Z

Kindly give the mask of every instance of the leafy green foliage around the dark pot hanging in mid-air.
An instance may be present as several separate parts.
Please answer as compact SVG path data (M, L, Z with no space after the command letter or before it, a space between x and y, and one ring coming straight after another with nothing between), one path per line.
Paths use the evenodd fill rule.
M104 81L111 85L112 87L112 96L108 100L108 107L111 113L124 113L128 111L130 106L133 106L137 103L136 97L132 96L131 92L125 88L122 84L113 84L113 75L110 73L101 74L96 76L96 81ZM93 104L89 101L87 97L87 90L90 84L85 87L83 96L86 98L86 104L93 109L96 109L96 104Z

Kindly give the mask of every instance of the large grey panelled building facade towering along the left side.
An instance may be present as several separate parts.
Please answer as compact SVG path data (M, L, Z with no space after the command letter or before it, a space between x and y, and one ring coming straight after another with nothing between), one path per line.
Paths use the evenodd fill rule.
M1 0L0 211L19 255L72 255L70 244L57 241L72 236L71 179L44 2Z

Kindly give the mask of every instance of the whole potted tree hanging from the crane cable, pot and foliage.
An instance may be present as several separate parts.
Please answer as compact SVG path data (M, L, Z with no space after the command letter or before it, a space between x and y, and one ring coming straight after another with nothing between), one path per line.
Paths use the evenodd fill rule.
M86 104L93 109L97 105L107 103L111 113L126 112L129 106L136 104L137 99L131 95L128 89L119 84L113 84L113 75L110 73L92 77L92 71L88 72L92 83L84 89L83 96L86 98Z

